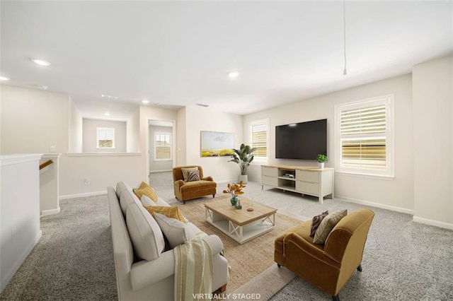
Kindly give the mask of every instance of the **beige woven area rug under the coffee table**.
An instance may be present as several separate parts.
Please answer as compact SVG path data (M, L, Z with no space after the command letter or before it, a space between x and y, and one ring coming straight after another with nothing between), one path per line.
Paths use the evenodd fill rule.
M273 230L249 242L239 244L205 221L205 206L203 203L207 201L210 201L210 199L203 198L188 201L185 205L181 204L179 207L183 211L184 216L200 230L208 235L218 235L222 240L226 259L228 259L229 266L231 266L225 293L233 293L242 287L238 292L260 293L262 295L261 299L263 299L263 294L268 297L272 296L294 278L294 274L287 271L286 268L277 268L277 264L274 261L274 240L287 228L300 223L300 220L285 216L277 211ZM258 281L260 278L263 278L263 282ZM270 279L273 281L269 281ZM266 283L266 288L263 288L263 283ZM267 300L268 297L263 300Z

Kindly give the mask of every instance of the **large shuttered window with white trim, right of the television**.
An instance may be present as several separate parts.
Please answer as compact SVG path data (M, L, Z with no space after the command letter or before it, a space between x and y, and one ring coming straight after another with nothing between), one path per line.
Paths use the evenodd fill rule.
M339 172L393 177L393 95L336 106Z

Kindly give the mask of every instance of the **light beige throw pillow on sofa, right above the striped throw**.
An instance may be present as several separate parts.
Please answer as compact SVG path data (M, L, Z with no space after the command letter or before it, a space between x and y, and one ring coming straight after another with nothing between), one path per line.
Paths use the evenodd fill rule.
M168 218L160 213L154 213L154 218L156 218L156 222L162 232L164 232L165 237L167 237L171 249L195 239L195 233L185 223L174 218Z

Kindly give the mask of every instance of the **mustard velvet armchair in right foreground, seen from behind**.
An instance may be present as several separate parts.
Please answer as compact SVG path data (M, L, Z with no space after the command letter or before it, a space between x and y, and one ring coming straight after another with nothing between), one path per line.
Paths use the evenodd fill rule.
M311 220L291 228L275 239L274 259L311 285L340 300L338 293L352 274L362 271L362 255L373 211L353 211L338 222L325 244L314 244Z

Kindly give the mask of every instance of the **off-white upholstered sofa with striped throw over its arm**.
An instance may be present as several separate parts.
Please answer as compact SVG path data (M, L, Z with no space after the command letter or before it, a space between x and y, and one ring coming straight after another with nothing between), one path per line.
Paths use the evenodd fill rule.
M107 190L118 299L174 300L173 249L164 249L164 235L156 220L124 182L117 183L116 191L113 187ZM168 206L168 203L159 199L157 205ZM192 223L187 224L201 232ZM137 237L137 232L147 242L139 245L136 239L131 240L131 237ZM223 249L222 241L217 235L206 236L203 240L212 251L212 289L224 291L228 281L228 261L219 254Z

